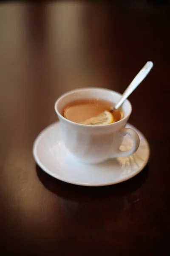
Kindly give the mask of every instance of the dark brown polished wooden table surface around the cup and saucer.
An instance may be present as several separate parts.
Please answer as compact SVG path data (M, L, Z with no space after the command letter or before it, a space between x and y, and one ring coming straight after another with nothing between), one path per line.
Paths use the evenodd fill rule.
M2 256L170 253L170 9L89 2L0 4ZM62 93L85 86L122 93L148 60L154 68L130 96L130 123L151 150L138 176L90 188L36 166L34 139L56 121Z

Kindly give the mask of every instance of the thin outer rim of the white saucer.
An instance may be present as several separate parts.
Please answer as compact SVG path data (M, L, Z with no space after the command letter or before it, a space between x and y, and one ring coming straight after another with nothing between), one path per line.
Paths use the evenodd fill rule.
M91 183L82 183L82 182L74 182L74 181L69 181L69 180L65 180L63 179L61 176L59 175L56 175L54 174L54 172L50 172L48 168L46 168L40 161L39 157L37 156L36 154L36 149L37 149L37 145L39 143L39 141L41 140L41 137L44 135L44 133L49 129L51 128L52 126L55 126L55 125L59 125L59 121L57 122L54 122L50 125L48 125L47 127L45 127L39 134L38 136L36 137L36 139L34 140L34 143L33 143L33 149L32 149L32 154L34 156L34 160L35 162L37 163L38 166L40 166L40 168L46 172L48 175L58 179L58 180L61 180L62 182L66 182L66 183L69 183L69 184L74 184L74 185L77 185L77 186L111 186L111 185L114 185L114 184L118 184L118 183L122 183L122 182L125 182L133 177L135 177L136 175L138 175L143 169L144 167L147 165L148 163L148 160L149 160L149 157L150 157L150 146L149 146L149 143L147 141L147 139L144 137L144 135L142 134L141 131L139 131L137 128L135 128L135 126L131 125L130 123L127 123L127 125L130 126L130 128L133 128L137 133L139 133L139 137L142 137L142 139L145 141L146 145L147 145L147 149L148 149L148 154L147 154L147 158L146 160L144 161L143 165L134 173L132 173L132 175L128 176L128 177L125 177L125 178L122 178L120 180L117 180L117 181L112 181L112 182L105 182L105 183L96 183L96 184L91 184ZM125 127L126 127L125 126ZM81 162L79 162L81 163ZM84 163L82 163L84 164ZM88 166L89 164L87 164ZM96 164L97 165L97 164Z

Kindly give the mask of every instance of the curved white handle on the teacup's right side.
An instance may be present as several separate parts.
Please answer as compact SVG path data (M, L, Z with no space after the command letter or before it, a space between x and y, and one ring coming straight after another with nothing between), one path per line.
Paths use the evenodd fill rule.
M126 134L130 135L130 137L133 140L133 147L127 151L122 151L118 149L118 151L113 155L113 157L129 157L130 155L134 154L139 148L139 135L137 134L136 131L134 131L131 128L123 128L120 132L123 136L125 136Z

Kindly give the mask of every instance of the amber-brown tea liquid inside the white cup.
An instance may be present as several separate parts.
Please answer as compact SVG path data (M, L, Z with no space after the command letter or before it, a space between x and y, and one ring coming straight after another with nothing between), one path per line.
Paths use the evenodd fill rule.
M81 123L86 119L98 116L104 111L110 111L114 104L102 99L80 99L73 102L69 102L62 109L62 116L66 119ZM112 112L115 122L119 121L124 117L123 111L119 110Z

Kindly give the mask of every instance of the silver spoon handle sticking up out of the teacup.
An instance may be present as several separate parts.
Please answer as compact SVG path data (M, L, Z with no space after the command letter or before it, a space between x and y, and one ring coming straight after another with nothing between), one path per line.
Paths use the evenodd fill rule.
M127 89L122 94L119 102L115 105L114 109L118 109L123 102L129 97L129 95L136 89L136 87L143 81L143 79L147 76L150 70L153 67L152 61L147 61L147 63L142 67L142 70L135 76L135 78L131 81Z

